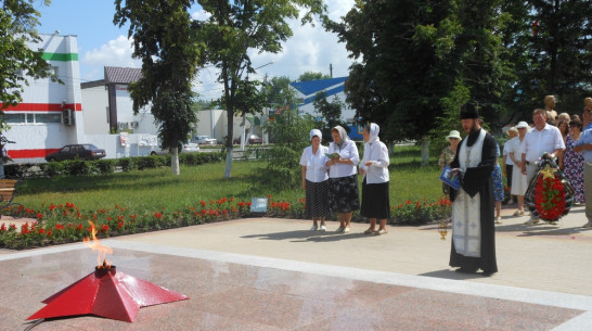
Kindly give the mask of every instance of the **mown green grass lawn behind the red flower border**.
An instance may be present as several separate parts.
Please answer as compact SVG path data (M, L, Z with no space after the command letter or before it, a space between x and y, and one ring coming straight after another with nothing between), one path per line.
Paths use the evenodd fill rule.
M419 148L396 148L391 157L390 201L392 205L441 198L437 155L430 166L422 167ZM110 208L115 204L136 211L166 207L179 209L200 201L221 198L250 201L252 196L272 194L273 200L291 202L304 198L301 189L270 192L252 182L254 171L265 171L266 162L233 163L232 178L222 178L224 163L181 167L175 177L170 168L134 170L107 176L26 179L18 188L16 202L26 207L70 202L80 209ZM361 180L361 178L360 178Z

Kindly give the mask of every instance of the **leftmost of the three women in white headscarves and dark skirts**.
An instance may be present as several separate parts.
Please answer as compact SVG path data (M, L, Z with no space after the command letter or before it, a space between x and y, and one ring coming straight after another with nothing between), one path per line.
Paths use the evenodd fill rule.
M325 231L325 217L331 216L329 202L329 174L325 153L329 149L321 144L323 135L318 129L310 130L310 145L300 157L303 166L303 189L306 191L305 215L312 217L311 231ZM321 226L319 227L319 219Z

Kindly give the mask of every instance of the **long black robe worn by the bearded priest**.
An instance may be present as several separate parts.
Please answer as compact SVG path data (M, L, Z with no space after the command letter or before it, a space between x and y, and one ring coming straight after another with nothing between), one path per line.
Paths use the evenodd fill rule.
M461 149L467 149L478 143L481 130L482 129L472 132L459 143L459 150L456 151L456 155L454 155L454 160L451 164L452 168L459 168L461 165L459 160L459 155L462 154ZM472 204L468 204L466 211L463 211L463 215L459 215L461 213L456 213L456 215L454 215L453 212L452 250L450 253L451 267L461 267L463 269L475 271L477 269L481 269L484 273L493 273L498 271L498 265L496 262L496 226L493 222L496 199L493 195L493 181L491 178L491 173L493 171L493 167L496 165L496 139L491 135L485 133L485 137L482 138L480 162L477 166L466 167L462 176L461 189L459 191L451 189L450 200L452 201L453 209L456 204L456 212L459 211L459 204L461 201L463 201L464 205L467 200L477 200L475 199L477 194L479 205L478 207L471 208ZM465 194L463 195L461 191L464 191L463 193ZM466 224L467 220L473 220L475 224ZM464 225L463 221L465 222ZM472 228L480 229L474 233L469 233ZM454 234L455 230L456 235ZM465 235L467 233L468 235ZM458 245L455 245L454 237L456 237ZM475 244L473 249L465 250L465 252L462 253L458 252L455 247L459 246L459 244L464 245L464 242L462 241L467 239L471 239Z

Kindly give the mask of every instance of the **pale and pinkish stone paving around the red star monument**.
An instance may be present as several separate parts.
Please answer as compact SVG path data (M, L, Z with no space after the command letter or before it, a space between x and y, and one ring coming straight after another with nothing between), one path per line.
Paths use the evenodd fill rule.
M448 266L437 225L386 235L311 232L311 222L247 218L102 240L118 271L189 295L132 323L94 316L33 330L592 330L592 229L583 207L557 226L497 226L500 272ZM337 228L329 222L327 229ZM0 329L24 330L42 300L94 270L81 243L0 254Z

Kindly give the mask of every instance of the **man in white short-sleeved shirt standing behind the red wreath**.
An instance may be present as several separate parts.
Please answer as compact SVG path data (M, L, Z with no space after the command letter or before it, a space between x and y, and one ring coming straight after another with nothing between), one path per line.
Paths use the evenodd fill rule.
M562 132L554 126L546 124L546 111L537 109L532 112L535 127L528 131L522 144L522 170L526 175L527 182L537 175L537 164L543 153L551 154L551 157L565 150ZM526 225L539 222L539 217L530 214Z

